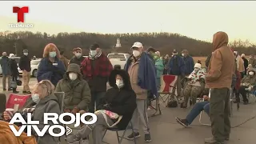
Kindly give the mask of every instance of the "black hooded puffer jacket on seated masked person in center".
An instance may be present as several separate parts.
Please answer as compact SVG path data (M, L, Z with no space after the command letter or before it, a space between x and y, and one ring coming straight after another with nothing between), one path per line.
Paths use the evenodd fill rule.
M116 86L116 75L121 75L124 87L120 90ZM112 70L109 78L110 88L102 98L98 110L110 110L118 115L122 115L122 120L118 123L118 129L125 130L136 109L136 94L130 86L130 77L125 70Z

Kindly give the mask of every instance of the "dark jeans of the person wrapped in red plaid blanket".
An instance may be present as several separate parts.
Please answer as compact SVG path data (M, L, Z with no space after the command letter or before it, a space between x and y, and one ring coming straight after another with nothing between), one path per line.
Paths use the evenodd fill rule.
M91 94L91 99L90 99L89 112L94 113L95 102L96 102L96 108L97 108L100 100L105 96L106 92L90 91L90 94Z

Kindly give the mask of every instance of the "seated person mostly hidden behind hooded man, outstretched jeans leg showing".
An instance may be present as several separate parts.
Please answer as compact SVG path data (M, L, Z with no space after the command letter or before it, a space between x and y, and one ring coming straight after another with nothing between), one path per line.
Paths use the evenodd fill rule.
M193 109L190 110L190 113L187 114L186 118L185 119L182 119L182 118L178 118L176 117L176 121L181 124L182 126L189 126L193 121L194 121L194 118L197 118L197 116L201 113L202 110L204 110L206 112L206 114L210 114L210 103L209 103L209 100L210 98L208 97L209 95L209 89L205 89L203 90L202 92L202 98L204 99L203 102L197 102Z

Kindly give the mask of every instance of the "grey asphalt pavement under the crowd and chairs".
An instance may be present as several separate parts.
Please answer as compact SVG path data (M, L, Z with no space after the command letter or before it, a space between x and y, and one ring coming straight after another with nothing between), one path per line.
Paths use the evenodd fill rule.
M2 82L2 78L0 78ZM30 86L36 83L35 78L31 78ZM18 86L18 91L22 91L22 86ZM2 83L0 84L0 93L2 93ZM7 95L10 92L5 92ZM230 141L226 144L255 144L256 142L256 103L252 102L250 98L250 104L247 106L240 105L239 110L233 110L233 115L231 116L231 125L234 127L231 129ZM189 128L184 128L175 121L175 117L185 118L186 114L189 112L190 108L166 108L162 107L162 115L149 118L150 121L150 134L152 137L151 144L203 144L204 138L211 137L210 126L202 126L198 122L198 118L194 120ZM149 115L152 114L154 110L149 110ZM210 123L209 118L206 114L202 115L202 122ZM243 123L243 124L242 124ZM242 124L241 126L238 126ZM122 134L120 132L119 134ZM127 130L126 135L130 134L130 130ZM146 143L144 142L144 134L141 131L141 138L138 138L138 144ZM110 144L118 144L116 134L114 132L108 131L105 142ZM62 138L62 144L66 142ZM122 144L132 144L132 141L123 140Z

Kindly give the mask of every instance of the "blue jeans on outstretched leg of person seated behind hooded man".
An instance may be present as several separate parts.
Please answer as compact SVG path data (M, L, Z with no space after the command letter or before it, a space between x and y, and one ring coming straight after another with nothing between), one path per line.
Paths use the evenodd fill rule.
M197 118L202 110L205 110L206 114L210 114L210 103L208 101L197 102L193 109L190 110L190 113L187 114L186 121L191 124L194 121L194 118Z

